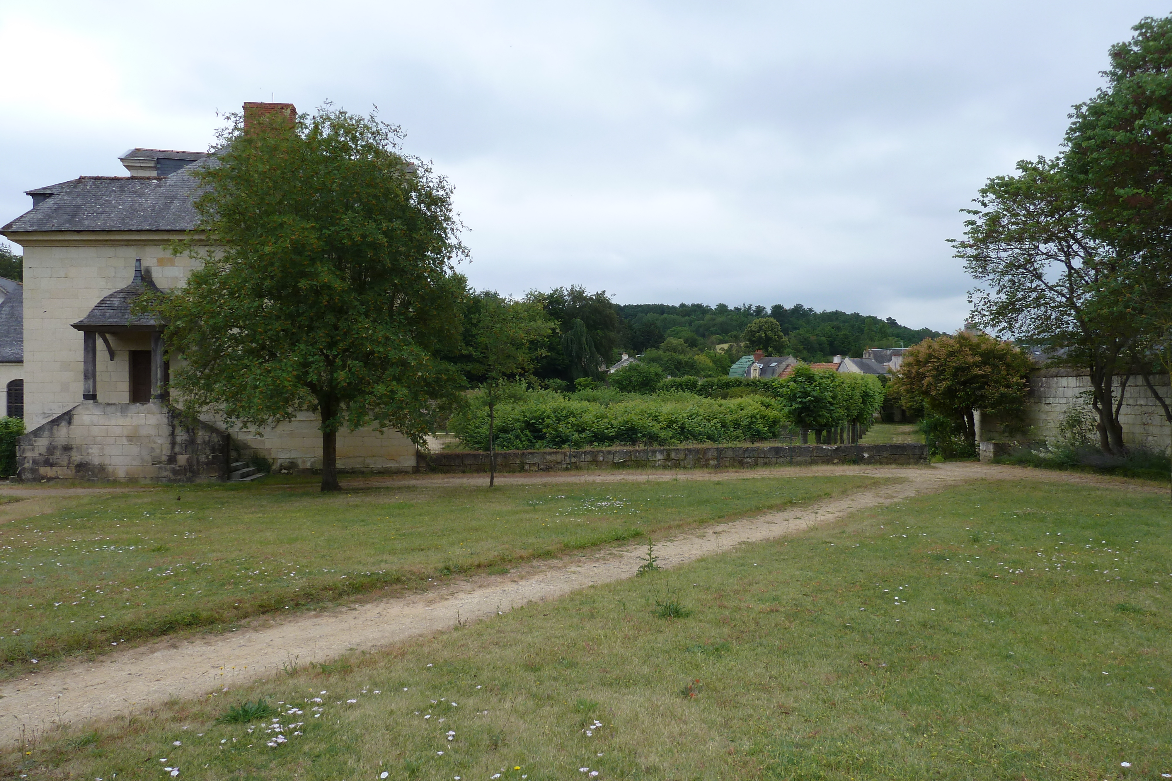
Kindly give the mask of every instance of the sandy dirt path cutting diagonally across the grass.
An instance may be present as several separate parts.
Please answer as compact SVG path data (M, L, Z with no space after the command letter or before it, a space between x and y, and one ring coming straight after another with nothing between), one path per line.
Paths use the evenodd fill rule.
M901 470L811 468L836 474L890 477L893 480L881 488L823 501L817 507L806 506L681 534L656 544L659 563L668 568L677 567L744 542L772 540L831 522L856 509L888 505L972 480L1035 479L1120 486L1117 480L1092 475L980 464ZM796 472L786 470L783 474L795 475ZM702 475L704 473L696 473L695 478L702 479ZM530 475L510 477L527 481ZM543 481L571 481L557 479L563 475L533 477L540 477ZM669 479L672 475L647 477ZM728 473L715 477L728 477ZM631 475L625 479L631 479ZM428 480L429 485L435 482ZM642 549L632 544L565 560L534 562L507 575L478 576L422 595L295 616L257 630L183 640L163 639L91 663L26 676L0 685L0 745L39 734L59 722L124 714L170 698L196 697L232 687L279 672L291 663L323 662L348 651L377 649L410 637L435 633L451 629L457 616L463 622L479 621L516 605L627 578L634 575L641 554Z

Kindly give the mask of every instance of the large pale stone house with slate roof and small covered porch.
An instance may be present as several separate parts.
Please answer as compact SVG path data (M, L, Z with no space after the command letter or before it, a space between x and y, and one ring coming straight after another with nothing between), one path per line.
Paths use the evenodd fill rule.
M293 107L245 104L246 117L258 110ZM0 228L25 249L22 480L224 479L250 455L287 471L320 467L311 413L264 431L229 431L213 419L186 426L168 403L163 326L130 317L145 287L175 289L196 267L169 245L196 227L191 171L205 157L132 149L120 158L129 176L30 190L33 208ZM340 471L415 464L415 445L398 432L338 436Z

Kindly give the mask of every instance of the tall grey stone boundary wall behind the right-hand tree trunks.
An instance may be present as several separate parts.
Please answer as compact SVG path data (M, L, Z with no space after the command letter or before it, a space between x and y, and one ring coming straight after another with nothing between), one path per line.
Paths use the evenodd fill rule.
M1123 377L1115 378L1118 393ZM1153 375L1152 384L1172 406L1172 388L1167 375ZM1056 439L1058 424L1065 411L1076 404L1090 404L1083 400L1081 393L1090 391L1090 378L1085 372L1074 369L1038 369L1030 375L1030 398L1026 406L1026 425L1034 427L1034 438ZM1127 377L1123 396L1123 407L1119 410L1119 423L1123 424L1123 440L1127 445L1144 446L1157 452L1167 452L1172 446L1172 425L1164 417L1164 410L1152 397L1139 376Z

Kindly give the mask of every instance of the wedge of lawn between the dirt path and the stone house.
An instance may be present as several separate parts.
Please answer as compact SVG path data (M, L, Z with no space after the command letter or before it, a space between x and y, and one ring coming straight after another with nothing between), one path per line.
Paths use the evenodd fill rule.
M874 485L858 477L591 486L149 489L6 506L0 674L32 660L425 587ZM48 502L48 505L46 505Z

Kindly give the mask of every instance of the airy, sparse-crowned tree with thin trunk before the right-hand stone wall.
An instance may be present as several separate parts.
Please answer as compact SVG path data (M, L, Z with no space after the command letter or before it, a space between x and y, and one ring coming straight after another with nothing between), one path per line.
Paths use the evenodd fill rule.
M1095 214L1059 159L1022 160L1017 170L981 189L980 208L966 210L966 238L954 244L966 270L983 283L969 293L972 316L1045 348L1056 363L1085 369L1101 447L1122 453L1119 409L1139 329L1113 290L1131 259L1096 235ZM952 342L932 350L943 344Z

